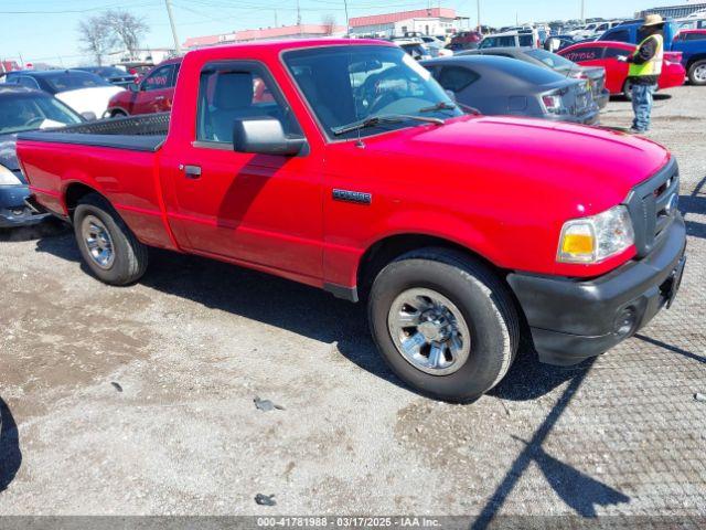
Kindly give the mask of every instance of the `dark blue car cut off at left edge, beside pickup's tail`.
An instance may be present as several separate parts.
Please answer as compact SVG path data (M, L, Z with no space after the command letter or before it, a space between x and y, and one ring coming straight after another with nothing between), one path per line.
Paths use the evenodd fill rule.
M41 222L24 203L30 189L15 153L18 132L85 121L62 102L40 91L0 85L0 229Z

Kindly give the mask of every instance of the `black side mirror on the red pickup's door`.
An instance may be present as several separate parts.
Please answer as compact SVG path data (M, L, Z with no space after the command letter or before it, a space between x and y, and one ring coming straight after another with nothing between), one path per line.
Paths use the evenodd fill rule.
M244 118L233 124L233 149L257 155L299 155L307 144L302 136L285 132L275 118Z

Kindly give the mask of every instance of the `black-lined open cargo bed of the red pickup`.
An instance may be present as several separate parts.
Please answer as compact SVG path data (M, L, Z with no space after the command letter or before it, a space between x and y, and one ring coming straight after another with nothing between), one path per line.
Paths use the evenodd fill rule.
M169 119L170 113L109 118L56 129L22 132L19 138L154 152L167 138Z

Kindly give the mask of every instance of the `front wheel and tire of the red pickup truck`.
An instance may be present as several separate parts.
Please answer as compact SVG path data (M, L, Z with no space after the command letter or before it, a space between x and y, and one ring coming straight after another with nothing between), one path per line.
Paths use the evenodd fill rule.
M432 294L438 295L437 301L453 306L447 307L452 315L460 315L461 319L452 321L464 348L466 332L461 331L468 330L470 346L466 359L461 353L453 360L450 349L443 357L437 356L442 361L439 365L452 361L442 370L428 365L432 364L434 341L418 350L421 357L418 354L417 360L403 353L402 343L406 344L408 337L427 337L429 328L422 330L425 324L402 333L391 324L395 315L419 314L404 303L400 306L400 300L411 296L424 307ZM520 341L520 318L509 287L482 262L448 248L413 251L383 268L371 289L368 319L373 339L392 370L420 393L449 402L470 402L495 386L510 370ZM439 320L443 321L438 319L437 324ZM427 365L421 365L424 362Z

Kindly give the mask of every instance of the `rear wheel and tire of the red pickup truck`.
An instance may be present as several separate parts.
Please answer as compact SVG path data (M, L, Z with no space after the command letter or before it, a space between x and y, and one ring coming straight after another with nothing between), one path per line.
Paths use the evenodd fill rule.
M85 195L76 206L73 221L81 255L98 279L122 286L142 277L148 263L147 246L137 240L107 200L97 193ZM110 252L105 252L106 248Z

